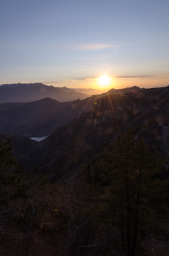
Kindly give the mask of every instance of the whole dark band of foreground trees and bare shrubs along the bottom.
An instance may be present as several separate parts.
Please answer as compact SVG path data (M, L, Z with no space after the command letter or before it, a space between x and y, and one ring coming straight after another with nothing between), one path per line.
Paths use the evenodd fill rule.
M168 239L168 182L157 178L165 160L129 129L111 152L53 186L21 171L11 142L1 142L0 252L2 247L4 255L151 255L141 253L144 240Z

